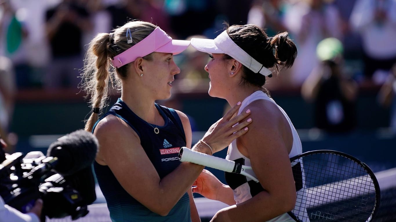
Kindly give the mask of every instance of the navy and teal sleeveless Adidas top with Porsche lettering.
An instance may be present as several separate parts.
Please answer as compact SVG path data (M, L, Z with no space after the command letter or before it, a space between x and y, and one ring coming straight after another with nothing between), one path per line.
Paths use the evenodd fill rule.
M139 135L141 146L162 179L179 166L179 150L180 147L186 146L186 137L179 115L177 115L175 110L157 103L155 103L155 106L165 120L164 126L158 126L159 134L154 133L155 125L138 117L120 98L101 119L107 115L114 115L123 119L135 130L137 135ZM95 126L101 119L95 123ZM95 126L92 132L95 130ZM167 216L160 216L129 195L114 177L108 166L102 166L94 162L93 169L99 187L105 196L110 218L113 222L191 221L187 192ZM141 184L141 186L144 186L144 184Z

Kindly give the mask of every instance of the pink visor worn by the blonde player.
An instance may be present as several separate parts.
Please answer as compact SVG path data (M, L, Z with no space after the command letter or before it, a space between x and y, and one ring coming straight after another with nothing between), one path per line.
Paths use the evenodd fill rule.
M135 61L138 57L146 56L152 52L173 53L173 55L176 55L187 49L188 45L190 45L190 41L172 40L166 32L157 26L150 35L136 43L136 45L114 56L112 64L114 67L120 68L129 62Z

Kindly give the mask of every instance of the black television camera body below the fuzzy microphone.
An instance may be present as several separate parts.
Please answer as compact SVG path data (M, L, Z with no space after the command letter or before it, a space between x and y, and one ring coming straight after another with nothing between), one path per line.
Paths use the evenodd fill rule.
M8 155L0 165L0 196L22 213L29 211L36 199L41 198L42 216L63 218L70 215L72 220L85 216L87 205L96 199L95 190L85 197L79 191L84 191L87 182L90 188L94 187L91 168L61 175L54 170L57 163L57 157L46 157L42 152L29 152L25 157L21 152ZM88 181L85 181L87 175Z

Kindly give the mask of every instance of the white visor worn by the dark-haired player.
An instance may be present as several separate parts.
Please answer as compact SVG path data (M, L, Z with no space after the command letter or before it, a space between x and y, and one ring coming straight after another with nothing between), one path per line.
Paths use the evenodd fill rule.
M263 64L257 62L257 60L236 45L230 36L228 36L227 30L219 34L214 40L192 38L191 45L196 50L204 53L227 54L255 73L260 73L264 76L268 76L272 73L272 71L265 68Z

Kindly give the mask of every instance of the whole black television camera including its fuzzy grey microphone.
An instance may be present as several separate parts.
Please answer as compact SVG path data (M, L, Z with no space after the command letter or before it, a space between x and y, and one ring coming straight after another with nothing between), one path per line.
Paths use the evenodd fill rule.
M96 199L91 164L97 149L93 134L77 130L51 143L46 156L40 151L8 155L0 165L0 196L22 213L43 199L42 221L86 216Z

